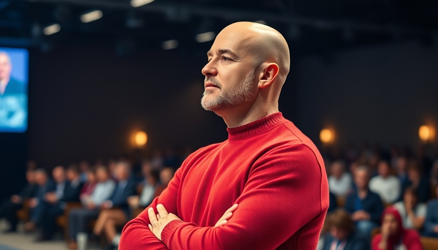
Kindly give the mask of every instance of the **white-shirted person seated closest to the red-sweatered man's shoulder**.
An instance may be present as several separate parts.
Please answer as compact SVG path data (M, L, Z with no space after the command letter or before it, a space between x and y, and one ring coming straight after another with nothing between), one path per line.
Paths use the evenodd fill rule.
M330 165L328 188L336 196L346 196L351 190L351 175L345 169L343 161L334 161Z

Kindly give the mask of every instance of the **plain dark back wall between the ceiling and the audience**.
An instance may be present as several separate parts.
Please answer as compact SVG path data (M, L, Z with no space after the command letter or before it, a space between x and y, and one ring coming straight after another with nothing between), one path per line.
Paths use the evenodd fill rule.
M206 61L146 49L120 57L110 46L30 50L29 129L0 134L1 196L20 188L28 159L50 169L131 155L137 130L148 133L145 153L225 140L223 120L200 106ZM280 110L317 146L332 127L338 145L415 147L419 125L437 127L437 68L437 48L416 42L294 56Z

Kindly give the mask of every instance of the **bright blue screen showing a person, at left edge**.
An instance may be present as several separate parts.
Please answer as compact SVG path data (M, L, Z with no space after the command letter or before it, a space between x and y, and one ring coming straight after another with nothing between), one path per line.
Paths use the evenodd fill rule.
M0 132L27 130L29 52L0 47Z

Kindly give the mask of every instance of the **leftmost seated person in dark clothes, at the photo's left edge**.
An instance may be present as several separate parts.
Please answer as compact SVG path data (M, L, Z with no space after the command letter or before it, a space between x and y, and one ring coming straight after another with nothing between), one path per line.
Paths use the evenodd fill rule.
M9 229L6 232L17 231L17 211L23 207L25 199L35 195L37 185L35 184L34 175L34 170L28 169L26 171L26 185L18 194L12 195L10 199L5 200L0 205L0 219L4 218L9 222Z

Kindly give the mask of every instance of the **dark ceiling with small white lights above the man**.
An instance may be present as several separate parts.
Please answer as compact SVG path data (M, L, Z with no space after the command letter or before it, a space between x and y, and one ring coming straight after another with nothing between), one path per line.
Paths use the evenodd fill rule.
M81 22L93 9L102 19ZM175 39L176 49L204 55L211 42L196 42L196 34L260 20L282 32L295 53L412 39L438 45L436 0L155 0L137 8L130 0L0 0L0 46L106 44L123 54ZM61 31L44 35L52 23Z

